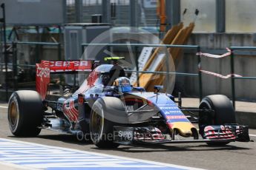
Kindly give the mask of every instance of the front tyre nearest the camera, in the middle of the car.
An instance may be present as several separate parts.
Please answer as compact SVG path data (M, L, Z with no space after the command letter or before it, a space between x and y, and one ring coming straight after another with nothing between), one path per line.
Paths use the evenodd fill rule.
M109 119L113 112L120 112L120 114L125 112L125 107L119 98L99 98L91 109L91 140L99 148L111 149L119 146L119 143L114 143L113 132L113 126L118 123Z

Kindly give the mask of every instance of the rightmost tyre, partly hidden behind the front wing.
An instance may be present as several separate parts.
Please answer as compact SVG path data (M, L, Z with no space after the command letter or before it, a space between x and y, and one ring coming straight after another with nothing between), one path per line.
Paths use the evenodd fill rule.
M225 95L209 95L203 98L199 109L211 109L214 112L199 112L199 129L203 137L203 130L209 125L223 125L236 123L234 108L231 101ZM229 142L210 142L211 146L223 146Z

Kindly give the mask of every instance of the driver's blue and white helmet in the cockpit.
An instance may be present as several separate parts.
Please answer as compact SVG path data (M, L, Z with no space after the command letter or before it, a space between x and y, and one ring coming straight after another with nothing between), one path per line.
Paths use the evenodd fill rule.
M114 86L118 89L119 92L131 92L132 87L130 80L125 77L116 78L114 81Z

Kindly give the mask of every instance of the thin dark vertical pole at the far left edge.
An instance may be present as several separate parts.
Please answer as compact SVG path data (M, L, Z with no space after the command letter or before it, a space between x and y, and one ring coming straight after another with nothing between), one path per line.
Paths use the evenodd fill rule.
M4 63L5 63L5 95L6 101L8 101L8 72L7 72L7 41L6 41L6 23L5 23L5 4L1 4L1 9L3 10L3 27L4 27Z

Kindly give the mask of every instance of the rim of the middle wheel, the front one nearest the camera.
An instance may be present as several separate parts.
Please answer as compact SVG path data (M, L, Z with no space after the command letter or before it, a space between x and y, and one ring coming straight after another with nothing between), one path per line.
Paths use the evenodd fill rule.
M91 135L94 143L98 143L102 138L103 126L104 126L104 118L103 114L99 115L97 112L93 112L91 117Z

